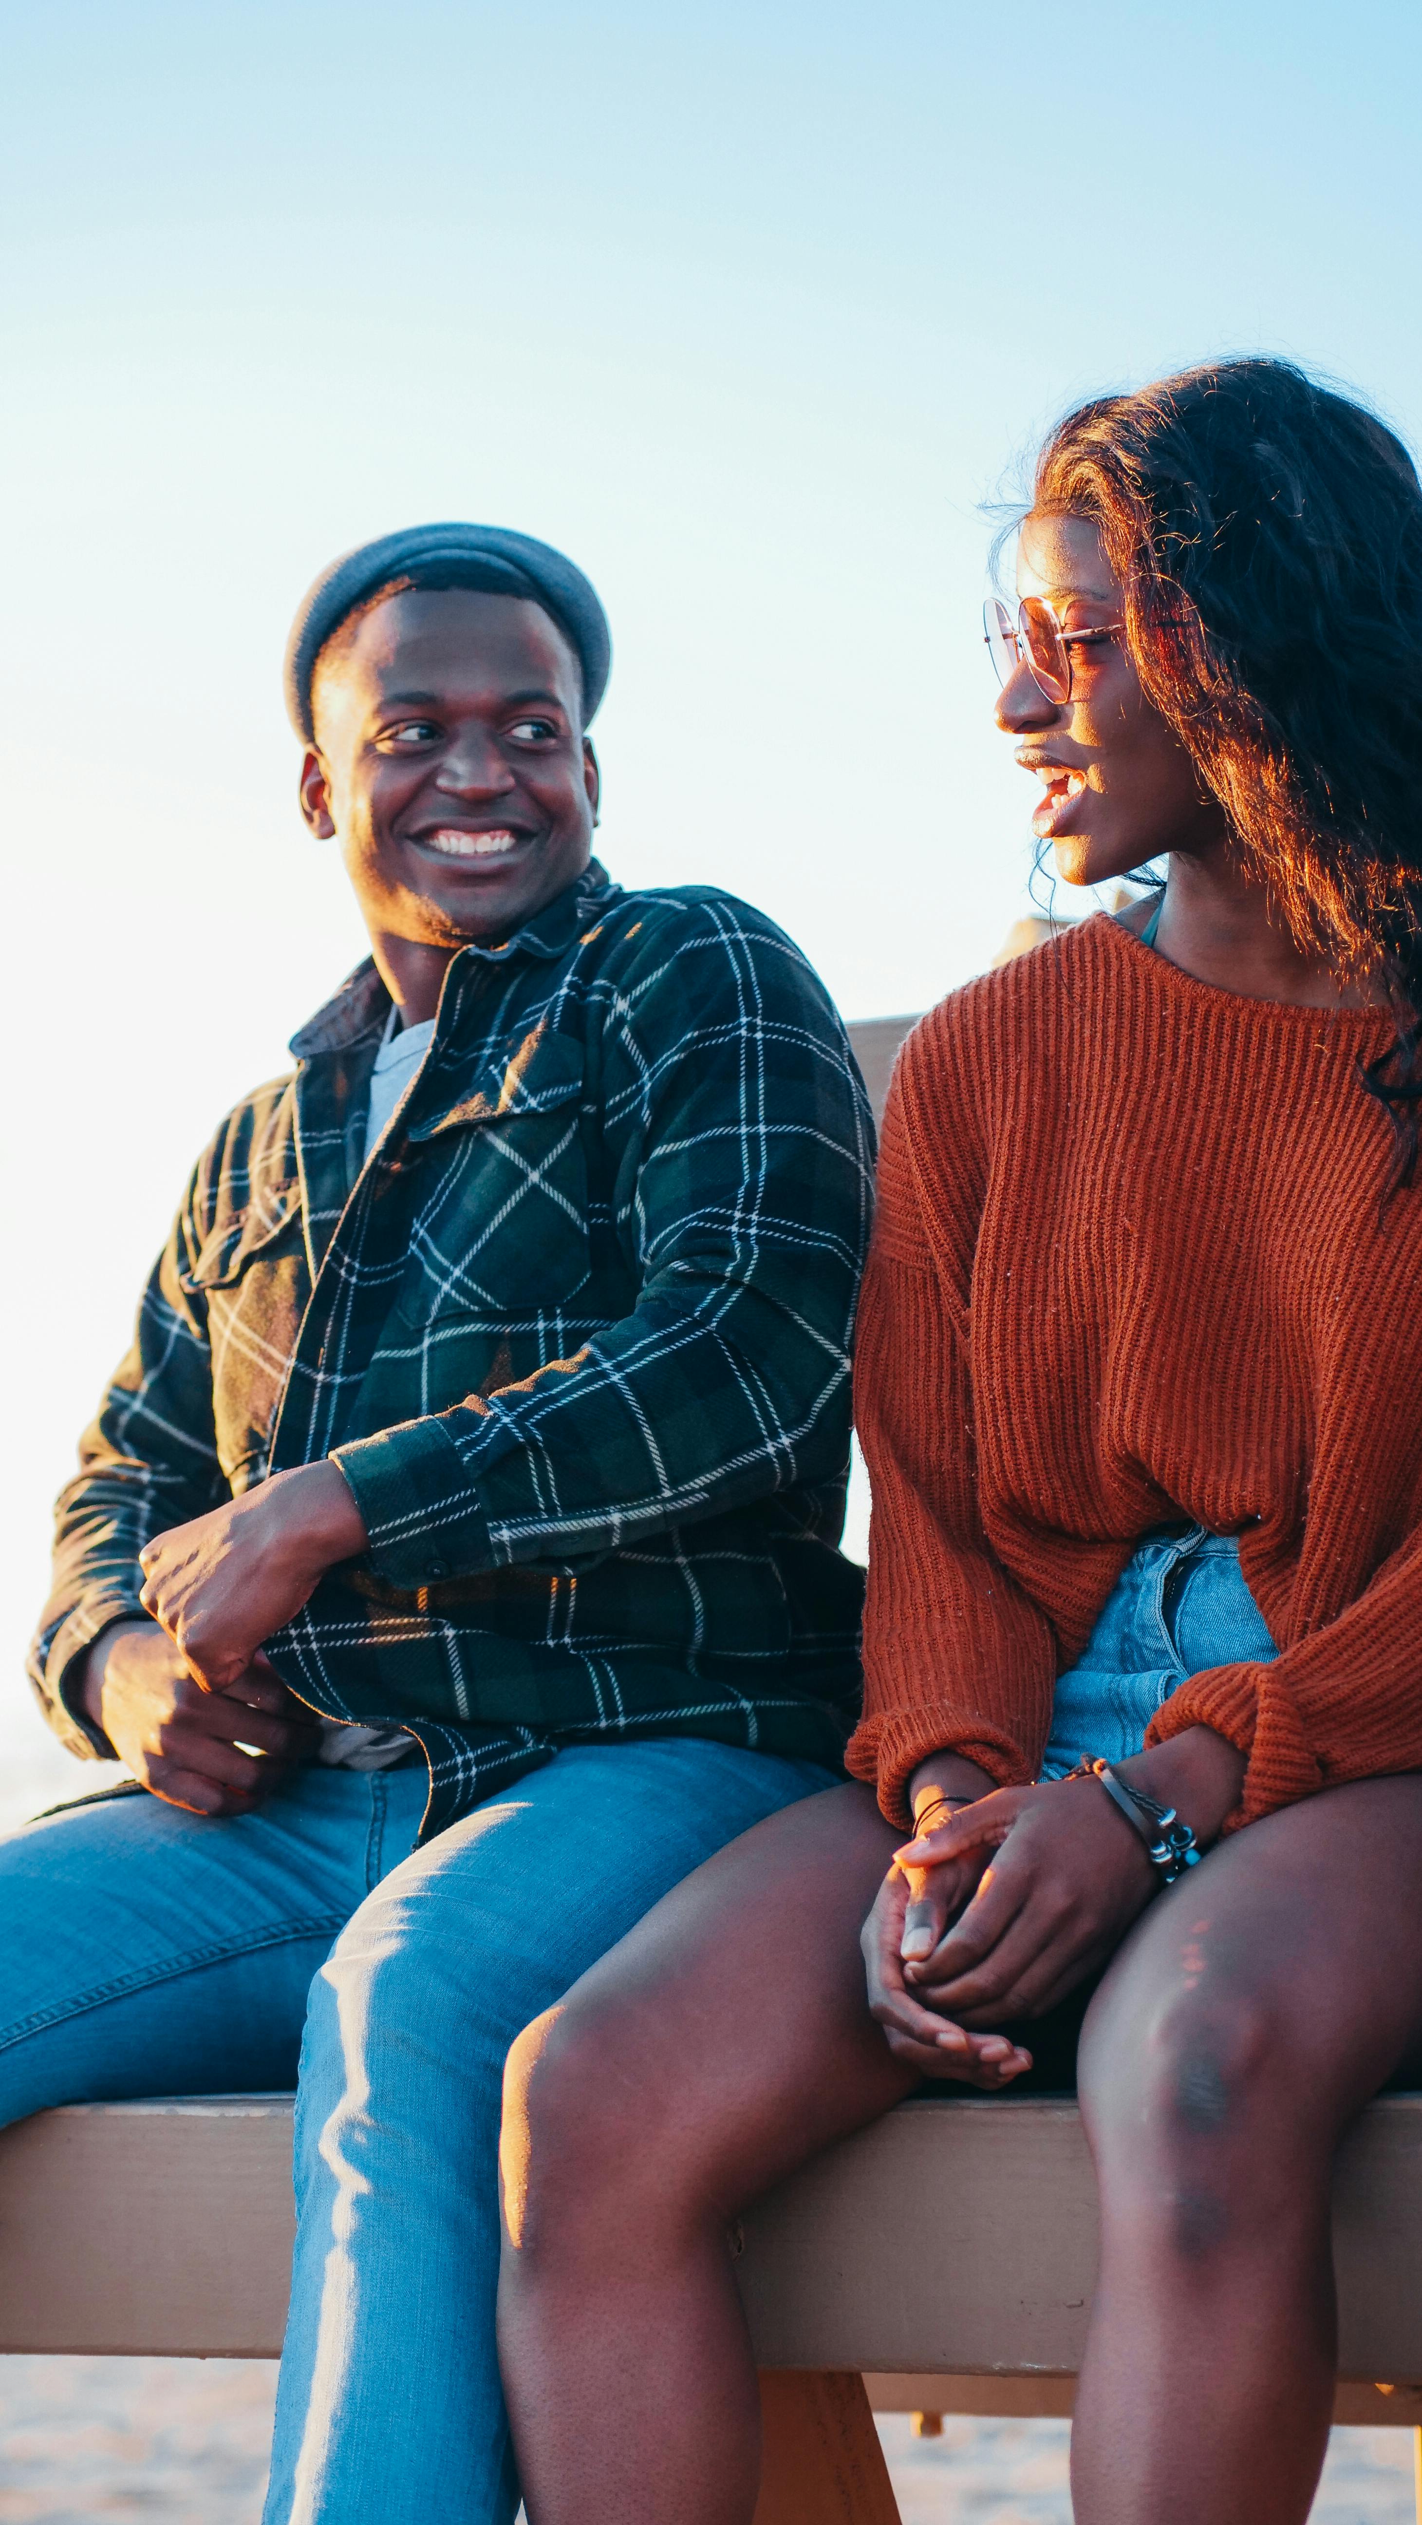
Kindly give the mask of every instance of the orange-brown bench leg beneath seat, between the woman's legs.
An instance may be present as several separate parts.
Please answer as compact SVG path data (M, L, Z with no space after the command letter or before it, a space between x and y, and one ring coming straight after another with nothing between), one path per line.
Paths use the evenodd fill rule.
M899 2525L864 2376L760 2374L755 2525Z

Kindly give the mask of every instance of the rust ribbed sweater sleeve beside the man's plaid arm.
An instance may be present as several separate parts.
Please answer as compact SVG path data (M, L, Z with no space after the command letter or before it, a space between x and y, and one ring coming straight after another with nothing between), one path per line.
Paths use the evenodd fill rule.
M967 1755L1000 1785L1036 1778L1058 1664L1056 1634L990 1550L977 1502L967 1341L983 1202L975 1121L972 1083L935 1010L889 1088L854 1374L874 1515L864 1720L846 1760L904 1828L907 1783L932 1752ZM929 1144L932 1187L917 1164Z

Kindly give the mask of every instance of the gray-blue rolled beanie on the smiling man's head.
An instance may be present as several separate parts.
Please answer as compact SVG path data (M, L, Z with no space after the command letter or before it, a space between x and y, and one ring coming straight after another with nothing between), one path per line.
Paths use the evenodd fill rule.
M583 727L591 725L611 669L611 634L594 583L551 543L505 525L407 525L399 535L341 553L296 609L285 644L285 707L306 745L313 740L311 677L331 634L386 581L429 568L450 571L452 586L528 596L543 606L578 659Z

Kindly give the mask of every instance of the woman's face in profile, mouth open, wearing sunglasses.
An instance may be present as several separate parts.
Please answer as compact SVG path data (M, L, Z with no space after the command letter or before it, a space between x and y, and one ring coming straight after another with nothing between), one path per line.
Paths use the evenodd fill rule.
M1121 586L1089 518L1025 518L1018 596L1046 598L1063 631L1121 621ZM1068 702L1048 702L1025 664L998 697L998 727L1043 783L1033 833L1051 841L1058 876L1101 886L1164 851L1217 851L1225 816L1147 702L1124 636L1068 656Z

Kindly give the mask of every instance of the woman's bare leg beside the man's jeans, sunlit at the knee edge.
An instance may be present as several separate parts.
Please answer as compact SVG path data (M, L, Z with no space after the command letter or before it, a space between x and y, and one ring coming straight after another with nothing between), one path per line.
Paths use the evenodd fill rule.
M859 1957L899 1838L861 1788L786 1808L515 2045L500 2356L533 2525L750 2525L727 2222L914 2086Z

